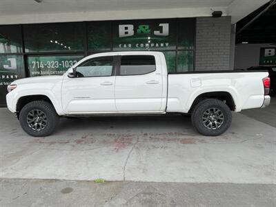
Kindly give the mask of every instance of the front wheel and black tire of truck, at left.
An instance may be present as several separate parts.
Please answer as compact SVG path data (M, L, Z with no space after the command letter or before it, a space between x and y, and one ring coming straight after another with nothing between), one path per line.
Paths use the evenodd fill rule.
M28 123L27 119L28 121L30 121L30 119L35 121L30 121ZM41 123L39 123L40 120ZM55 128L57 128L59 116L51 103L46 101L32 101L21 109L19 121L21 127L28 135L33 137L46 137L51 135ZM35 124L36 121L37 124ZM39 128L39 125L40 129L35 129Z

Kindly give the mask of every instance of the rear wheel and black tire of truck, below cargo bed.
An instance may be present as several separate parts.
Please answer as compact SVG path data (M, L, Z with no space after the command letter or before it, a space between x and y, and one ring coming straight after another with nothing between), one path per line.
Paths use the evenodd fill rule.
M193 126L205 136L221 135L230 127L231 122L230 108L218 99L205 99L199 102L192 113Z

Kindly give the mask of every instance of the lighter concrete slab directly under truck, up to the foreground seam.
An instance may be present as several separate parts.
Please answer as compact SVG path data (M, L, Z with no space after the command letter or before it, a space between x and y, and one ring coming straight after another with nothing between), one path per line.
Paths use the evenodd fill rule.
M182 116L61 119L51 137L26 135L0 109L0 177L275 184L276 128L241 114L219 137Z

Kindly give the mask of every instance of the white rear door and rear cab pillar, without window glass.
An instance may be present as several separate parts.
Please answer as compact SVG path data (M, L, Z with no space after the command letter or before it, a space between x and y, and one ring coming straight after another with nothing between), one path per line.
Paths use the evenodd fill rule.
M129 55L144 54L132 52ZM124 53L119 53L124 55ZM156 52L147 55L155 57L156 70L146 75L117 76L115 102L117 112L164 112L166 108L166 69Z

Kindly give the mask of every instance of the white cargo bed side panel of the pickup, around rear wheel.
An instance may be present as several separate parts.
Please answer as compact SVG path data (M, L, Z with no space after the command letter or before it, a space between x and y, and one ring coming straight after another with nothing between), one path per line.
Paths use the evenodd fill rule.
M264 103L262 79L267 72L222 72L168 75L167 112L188 112L193 101L206 92L228 92L236 112L260 108Z

